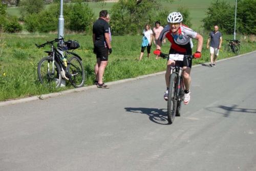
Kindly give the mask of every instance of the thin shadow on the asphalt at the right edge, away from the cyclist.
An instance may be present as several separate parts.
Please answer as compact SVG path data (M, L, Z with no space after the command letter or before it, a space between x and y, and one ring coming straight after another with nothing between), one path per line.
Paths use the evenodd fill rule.
M245 109L245 108L237 108L237 104L232 105L231 107L225 105L219 105L216 107L207 108L208 111L220 113L224 117L229 117L231 112L238 112L238 113L254 113L256 114L256 109ZM222 109L224 112L217 112L215 109Z

